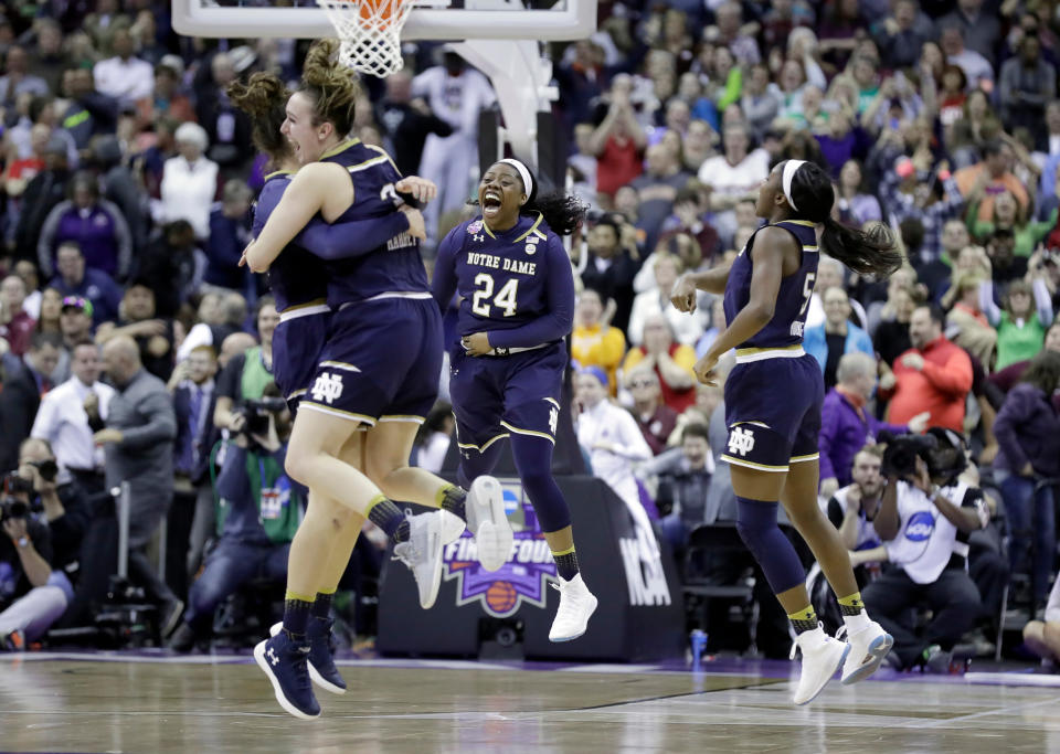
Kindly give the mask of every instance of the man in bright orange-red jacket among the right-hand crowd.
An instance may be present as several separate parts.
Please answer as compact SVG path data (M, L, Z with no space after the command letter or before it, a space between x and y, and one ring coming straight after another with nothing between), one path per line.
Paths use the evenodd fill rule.
M888 421L909 424L929 412L928 425L964 433L964 407L972 390L968 354L942 334L945 315L936 306L921 306L909 321L913 347L894 360L890 384L880 383L881 396L891 395Z

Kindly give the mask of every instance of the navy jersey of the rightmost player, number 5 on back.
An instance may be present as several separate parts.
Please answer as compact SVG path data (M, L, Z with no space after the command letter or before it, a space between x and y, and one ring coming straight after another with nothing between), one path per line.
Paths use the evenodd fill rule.
M763 225L763 227L771 226ZM817 279L817 233L814 230L814 223L807 220L782 220L772 227L783 227L795 236L803 248L803 263L796 273L781 278L773 319L753 338L740 343L736 348L784 348L803 342L809 297L814 293L814 280ZM761 230L760 227L748 238L748 245L736 256L729 270L724 299L725 322L729 325L751 298L751 274L754 269L751 262L751 247L755 235Z

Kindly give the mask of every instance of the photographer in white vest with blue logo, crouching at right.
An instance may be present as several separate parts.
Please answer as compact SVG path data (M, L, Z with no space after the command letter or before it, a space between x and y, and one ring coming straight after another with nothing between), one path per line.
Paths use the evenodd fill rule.
M968 534L989 523L989 508L962 475L967 459L956 433L933 428L881 439L887 488L872 525L891 565L866 588L865 604L894 637L898 667L923 662L946 672L954 645L979 615L979 592L967 572ZM921 636L909 617L915 605L933 614Z

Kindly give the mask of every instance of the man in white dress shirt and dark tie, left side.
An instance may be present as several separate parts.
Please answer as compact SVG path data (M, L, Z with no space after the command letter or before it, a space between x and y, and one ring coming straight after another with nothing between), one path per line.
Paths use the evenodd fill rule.
M99 350L91 340L74 346L71 371L41 401L30 436L46 439L64 472L92 493L104 488L103 449L92 436L103 428L114 387L99 382Z

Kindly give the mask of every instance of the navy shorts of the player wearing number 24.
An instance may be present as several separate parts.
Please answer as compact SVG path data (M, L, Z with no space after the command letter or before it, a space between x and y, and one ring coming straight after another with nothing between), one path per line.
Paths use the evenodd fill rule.
M451 353L449 396L457 444L481 453L510 433L555 444L566 344L507 357Z

